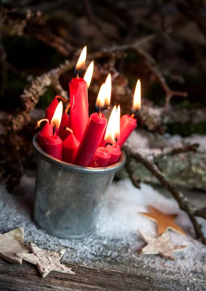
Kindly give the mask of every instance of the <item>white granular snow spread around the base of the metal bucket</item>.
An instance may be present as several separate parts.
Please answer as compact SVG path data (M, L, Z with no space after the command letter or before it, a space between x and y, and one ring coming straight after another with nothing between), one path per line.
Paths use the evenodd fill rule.
M24 176L15 194L8 194L4 186L0 186L0 233L16 227L24 226L25 243L32 241L39 247L58 250L67 247L64 260L89 266L107 264L124 264L156 269L168 275L181 273L181 280L192 280L191 276L204 279L206 274L206 246L194 239L194 232L187 215L179 210L172 198L160 194L152 186L141 184L136 189L129 179L113 182L105 199L105 206L97 222L97 229L91 236L81 240L59 239L38 229L32 221L34 196L34 178ZM139 215L139 211L147 211L150 204L166 213L179 214L176 222L186 231L188 236L171 232L171 240L175 244L186 244L188 248L175 253L175 262L160 256L141 255L138 251L144 242L138 235L138 229L156 236L154 222ZM200 219L206 234L206 221ZM189 279L190 278L190 279Z

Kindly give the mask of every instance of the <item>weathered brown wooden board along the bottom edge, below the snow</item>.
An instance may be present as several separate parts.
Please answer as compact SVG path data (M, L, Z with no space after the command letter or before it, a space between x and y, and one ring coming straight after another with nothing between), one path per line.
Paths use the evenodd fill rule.
M69 265L75 275L51 272L41 278L36 267L23 262L12 265L0 259L0 291L205 291L206 281L148 271L137 268L111 266L111 269ZM113 269L115 268L115 270ZM191 283L193 281L193 283Z

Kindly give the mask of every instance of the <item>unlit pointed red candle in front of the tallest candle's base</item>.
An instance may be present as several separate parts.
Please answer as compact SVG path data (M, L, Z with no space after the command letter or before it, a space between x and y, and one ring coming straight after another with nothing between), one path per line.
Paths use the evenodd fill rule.
M70 134L62 144L62 160L72 163L79 148L79 141L75 138L71 129L66 127L64 130Z

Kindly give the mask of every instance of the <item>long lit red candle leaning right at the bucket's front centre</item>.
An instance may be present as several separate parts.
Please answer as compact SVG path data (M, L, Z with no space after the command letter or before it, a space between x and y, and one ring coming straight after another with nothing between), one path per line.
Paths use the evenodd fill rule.
M105 96L108 96L107 89L105 84L100 88L96 102L99 114L93 113L90 115L84 136L73 161L76 165L87 167L94 160L107 124L106 117L103 115L103 110L108 109L109 106L107 100L105 100Z

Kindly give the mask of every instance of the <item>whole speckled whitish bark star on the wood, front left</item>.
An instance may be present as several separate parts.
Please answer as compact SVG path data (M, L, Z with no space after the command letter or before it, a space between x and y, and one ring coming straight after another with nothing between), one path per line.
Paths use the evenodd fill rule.
M62 265L59 260L63 257L66 249L58 252L52 252L37 247L33 242L29 242L32 254L17 253L16 255L34 265L37 265L39 273L42 277L46 277L51 271L66 274L75 274L70 268Z

